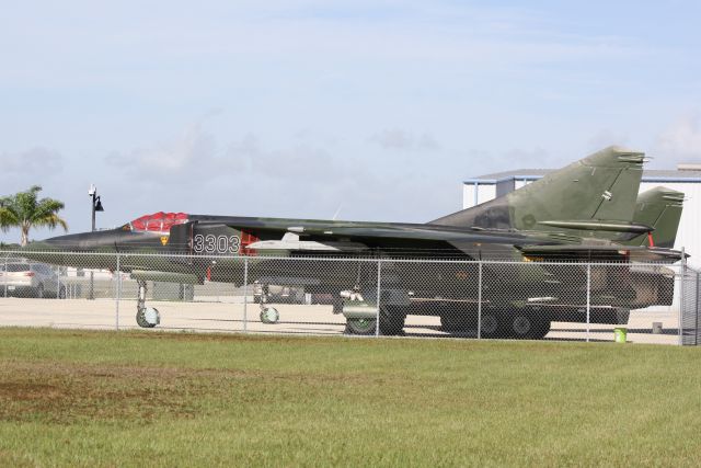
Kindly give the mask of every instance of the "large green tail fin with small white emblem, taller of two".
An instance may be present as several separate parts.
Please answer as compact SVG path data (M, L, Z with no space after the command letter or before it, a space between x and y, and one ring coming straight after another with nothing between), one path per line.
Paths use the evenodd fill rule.
M542 221L632 221L644 153L609 147L499 198L432 224L484 229L553 230Z

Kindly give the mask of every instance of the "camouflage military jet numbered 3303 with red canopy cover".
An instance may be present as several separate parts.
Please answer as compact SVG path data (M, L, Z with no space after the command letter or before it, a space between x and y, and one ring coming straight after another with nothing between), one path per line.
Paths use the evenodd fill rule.
M680 213L682 198L667 191L651 195L655 203L639 203L643 163L642 152L609 147L507 195L427 224L159 213L113 230L32 243L23 255L131 272L139 281L137 322L143 327L153 324L145 319L147 281L241 284L246 274L249 282L294 279L309 292L336 296L342 290L364 293L346 294L334 307L345 315L350 333L374 333L377 327L386 334L401 333L407 313L438 315L445 330L462 330L474 326L481 304L483 336L541 338L552 320L586 319L581 307L586 296L585 269L573 274L548 262L633 265L680 260L681 253L669 249L668 238L673 230L676 235L674 214ZM658 210L667 215L655 216ZM666 232L666 242L654 243L655 229ZM59 253L67 251L168 255L128 255L116 265L115 255ZM245 273L242 256L248 259ZM287 260L275 260L279 256ZM329 256L345 260L323 269L310 261ZM379 301L372 294L377 266L367 259L386 260ZM429 262L435 260L472 262ZM530 270L524 274L522 263L482 265L480 260L528 261ZM631 266L621 276L620 266L609 264L601 263L597 277L605 281L590 289L591 321L625 323L630 309L670 304L674 275L669 270ZM478 276L484 285L481 297L475 293ZM522 297L515 297L515 290ZM360 296L375 304L359 310L352 299Z

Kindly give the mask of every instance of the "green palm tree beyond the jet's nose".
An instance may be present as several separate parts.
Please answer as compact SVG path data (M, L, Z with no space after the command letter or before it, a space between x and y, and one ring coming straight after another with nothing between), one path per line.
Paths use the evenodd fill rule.
M41 191L39 185L33 185L26 192L0 198L0 229L7 232L10 228L20 228L22 247L27 244L33 227L55 229L60 226L68 231L68 225L57 215L64 209L64 203L54 198L36 199Z

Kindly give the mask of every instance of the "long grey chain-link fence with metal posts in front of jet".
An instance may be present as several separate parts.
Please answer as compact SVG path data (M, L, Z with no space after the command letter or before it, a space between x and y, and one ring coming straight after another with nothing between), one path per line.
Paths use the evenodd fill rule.
M22 255L22 256L20 256ZM0 251L0 326L699 344L683 265Z

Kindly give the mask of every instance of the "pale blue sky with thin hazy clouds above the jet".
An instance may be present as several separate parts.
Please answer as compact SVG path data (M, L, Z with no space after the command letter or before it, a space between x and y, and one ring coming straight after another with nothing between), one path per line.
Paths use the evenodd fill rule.
M425 221L464 178L610 144L701 162L700 3L525 3L5 2L0 194L43 185L72 232L90 183L103 228Z

